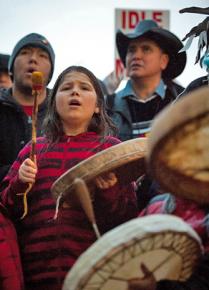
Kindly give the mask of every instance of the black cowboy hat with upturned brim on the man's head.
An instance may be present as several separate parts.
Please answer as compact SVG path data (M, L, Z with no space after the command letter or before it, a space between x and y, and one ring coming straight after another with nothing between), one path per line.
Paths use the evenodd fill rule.
M130 42L142 36L155 41L169 55L168 66L162 74L164 79L174 79L183 72L186 53L178 53L183 47L181 40L170 31L159 27L153 20L140 21L132 33L124 34L121 30L116 33L116 45L124 66Z

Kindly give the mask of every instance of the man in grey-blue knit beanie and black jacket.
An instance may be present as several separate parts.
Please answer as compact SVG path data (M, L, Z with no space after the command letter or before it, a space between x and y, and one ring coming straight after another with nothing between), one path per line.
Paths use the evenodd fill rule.
M55 54L49 41L38 33L24 36L9 58L13 85L0 90L0 180L8 172L20 149L31 139L33 107L32 73L43 74L43 90L38 98L37 135L46 112L47 84L54 71Z

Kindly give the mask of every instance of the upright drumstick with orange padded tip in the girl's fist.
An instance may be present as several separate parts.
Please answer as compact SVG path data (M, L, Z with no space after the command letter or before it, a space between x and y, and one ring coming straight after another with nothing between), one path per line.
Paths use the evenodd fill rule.
M38 71L34 71L32 73L32 94L34 97L33 101L33 112L32 112L32 140L31 140L31 151L30 151L30 159L33 162L36 162L35 155L35 145L36 145L36 136L37 136L37 113L38 113L38 97L41 94L43 89L43 74ZM33 183L29 183L26 191L23 193L23 205L24 212L21 217L23 219L28 213L28 203L27 203L27 194L31 190Z

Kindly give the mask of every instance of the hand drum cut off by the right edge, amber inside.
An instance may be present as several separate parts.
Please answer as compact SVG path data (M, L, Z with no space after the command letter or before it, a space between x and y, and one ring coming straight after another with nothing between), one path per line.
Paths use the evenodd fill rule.
M209 203L209 88L166 107L154 119L147 163L161 187Z

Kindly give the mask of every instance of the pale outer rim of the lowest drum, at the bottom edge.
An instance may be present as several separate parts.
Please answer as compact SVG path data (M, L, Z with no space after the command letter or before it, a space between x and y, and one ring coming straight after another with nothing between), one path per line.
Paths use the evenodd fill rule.
M115 250L118 253L118 249L121 246L121 244L125 244L127 241L130 241L130 238L133 238L132 239L133 241L137 241L136 233L135 232L131 233L130 225L136 226L137 230L142 229L142 228L145 229L145 226L148 226L147 233L150 233L150 234L156 236L158 234L157 226L159 224L161 225L161 227L162 227L162 225L164 226L164 230L161 232L161 234L163 234L164 232L169 234L169 232L172 232L171 230L169 230L169 228L171 227L171 225L173 225L173 223L175 223L175 228L176 228L175 233L178 235L185 236L186 241L190 241L191 243L194 242L195 251L197 252L197 249L200 250L200 252L199 252L199 254L200 254L201 251L203 251L203 248L202 248L201 240L200 240L199 236L181 218L178 218L178 217L172 216L172 215L167 215L167 214L166 215L165 214L155 214L155 215L149 215L149 216L145 216L145 217L141 217L141 218L135 218L135 219L133 219L129 222L126 222L126 223L118 226L117 228L107 232L100 240L96 241L89 249L87 249L87 251L84 252L78 258L75 265L72 267L72 269L67 274L65 282L64 282L63 290L84 289L83 287L81 287L81 285L85 284L86 280L89 280L90 277L94 274L93 272L91 273L91 270L87 271L87 267L85 267L84 261L86 261L86 264L91 263L90 257L92 257L92 254L94 253L94 251L97 253L96 258L95 258L95 263L94 263L94 266L92 266L92 265L90 266L91 269L93 267L93 271L95 270L95 268L96 268L95 264L97 264L98 261L103 260L105 262L105 257L108 255L108 253L111 252L113 254L113 252ZM153 226L156 227L156 229L155 229L156 232L155 231L153 232ZM128 232L125 232L124 228L126 228ZM136 231L136 229L134 229L134 231ZM158 231L159 231L159 228L158 228ZM139 234L139 236L138 236L139 240L140 240L141 235L142 234ZM117 236L117 237L120 236L120 238L123 240L123 243L121 243L121 242L119 243L119 241L116 241L114 239L114 236ZM187 238L188 238L188 240L187 240ZM110 241L111 241L111 245L108 243ZM106 247L105 247L105 245L106 245ZM112 248L111 248L111 246L112 246ZM190 253L190 251L189 251L189 253ZM197 253L196 253L196 255L197 255ZM194 262L198 259L198 255L196 256L196 258L195 258L195 256L193 258L194 258L194 260L192 262ZM80 268L81 264L84 266L84 269L82 269L82 270ZM193 267L193 265L191 265L191 268L192 267ZM183 270L182 270L182 273L183 273ZM191 273L189 273L189 274L191 274ZM81 278L82 275L83 275L83 277ZM78 281L78 277L80 278L79 281ZM70 281L69 284L71 285L70 289L67 288L67 283L68 283L67 281L68 280ZM184 280L184 279L182 279L182 280Z

